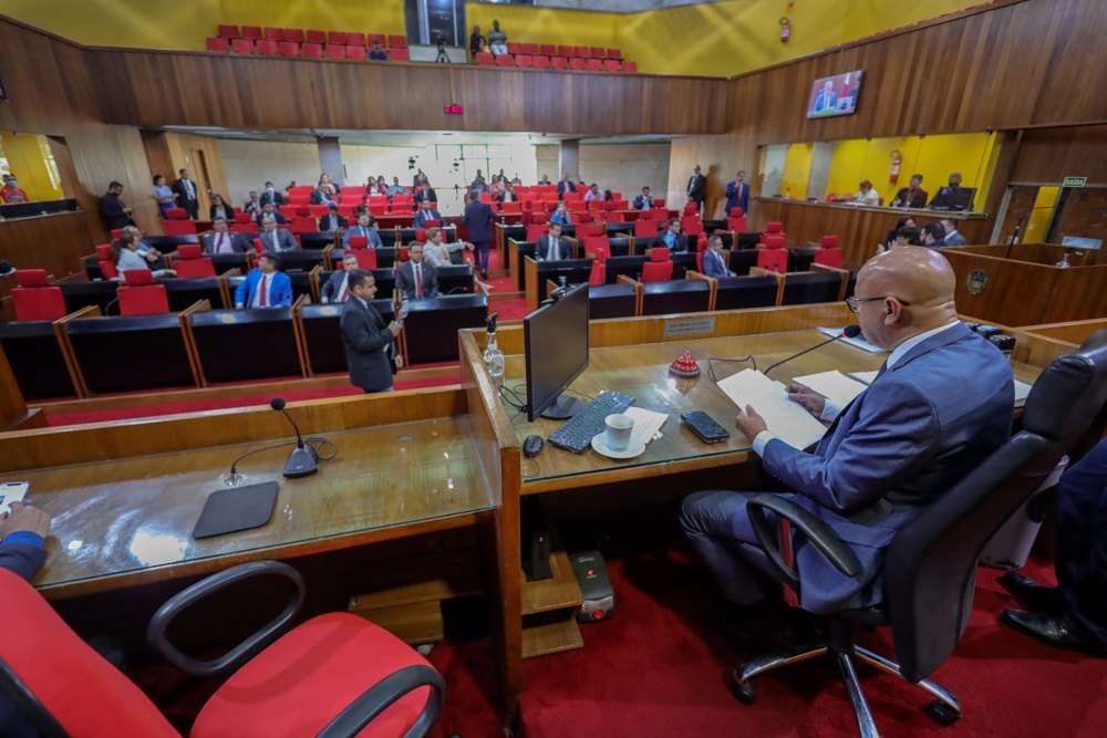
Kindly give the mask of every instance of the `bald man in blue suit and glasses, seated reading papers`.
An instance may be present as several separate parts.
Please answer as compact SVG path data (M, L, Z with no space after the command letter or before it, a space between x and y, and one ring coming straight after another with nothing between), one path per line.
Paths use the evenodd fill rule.
M861 563L845 576L815 547L799 547L800 605L815 613L867 607L883 599L884 550L899 529L974 469L1011 434L1014 384L1003 354L958 320L956 277L932 249L902 247L873 257L848 304L866 339L891 354L845 408L811 389L788 396L832 420L814 453L780 440L756 408L735 425L785 497L844 538ZM746 514L756 492L705 491L684 500L681 526L715 574L728 615L757 615L773 570ZM762 612L761 614L764 614Z

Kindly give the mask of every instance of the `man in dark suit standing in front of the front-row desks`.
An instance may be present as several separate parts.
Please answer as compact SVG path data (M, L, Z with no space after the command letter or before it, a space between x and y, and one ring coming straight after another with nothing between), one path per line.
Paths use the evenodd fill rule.
M381 313L370 304L376 297L376 280L364 269L350 272L350 294L342 308L342 345L350 384L361 387L366 395L392 392L392 375L403 367L403 357L396 353L400 323L385 324Z

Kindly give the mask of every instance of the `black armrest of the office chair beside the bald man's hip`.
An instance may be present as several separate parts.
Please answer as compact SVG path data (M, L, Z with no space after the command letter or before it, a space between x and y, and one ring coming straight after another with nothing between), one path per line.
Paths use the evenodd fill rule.
M861 562L857 559L857 554L825 522L789 499L777 495L758 495L746 502L749 524L765 554L783 575L784 582L796 592L799 591L799 575L784 561L779 529L765 514L766 510L772 510L777 518L787 520L846 576L856 576L861 571Z

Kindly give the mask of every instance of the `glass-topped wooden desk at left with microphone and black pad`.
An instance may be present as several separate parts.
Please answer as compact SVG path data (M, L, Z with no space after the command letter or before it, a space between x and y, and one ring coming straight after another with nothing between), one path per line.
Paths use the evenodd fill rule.
M34 584L61 599L291 559L478 522L489 487L458 389L290 403L304 436L339 454L318 474L284 479L290 446L239 462L242 484L280 485L270 521L193 540L208 493L239 455L288 439L271 409L74 426L0 437L9 478L54 520ZM325 449L324 449L325 454ZM46 465L50 466L46 466Z

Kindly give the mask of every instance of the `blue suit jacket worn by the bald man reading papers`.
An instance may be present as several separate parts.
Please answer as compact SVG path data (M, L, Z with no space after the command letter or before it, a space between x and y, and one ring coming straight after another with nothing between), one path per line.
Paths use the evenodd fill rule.
M770 440L765 468L861 561L847 578L815 547L797 547L803 607L826 613L883 600L884 550L897 531L1007 439L1014 402L1010 363L958 324L875 381L814 454Z

